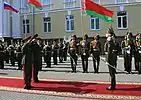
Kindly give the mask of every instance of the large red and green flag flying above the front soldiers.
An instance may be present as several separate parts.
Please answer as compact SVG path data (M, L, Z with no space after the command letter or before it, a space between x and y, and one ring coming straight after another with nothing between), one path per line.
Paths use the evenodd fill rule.
M91 0L82 1L82 13L94 17L103 19L106 22L113 22L113 11L106 9L105 7L94 3Z

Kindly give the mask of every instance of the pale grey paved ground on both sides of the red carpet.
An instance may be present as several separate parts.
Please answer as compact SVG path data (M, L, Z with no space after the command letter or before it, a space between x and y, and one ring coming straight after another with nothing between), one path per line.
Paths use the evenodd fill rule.
M132 64L133 64L132 70L134 74L125 74L123 72L118 72L118 74L116 75L118 82L141 83L140 75L134 71L134 63ZM66 61L65 63L59 63L57 66L52 65L52 68L44 68L46 65L45 63L43 63L43 71L40 71L39 78L40 79L75 80L75 81L106 81L106 82L109 82L110 77L108 73L108 67L106 66L106 64L101 61L99 74L93 73L92 65L93 65L92 59L90 58L89 59L89 73L82 73L82 65L79 59L78 66L77 66L77 73L71 73L69 60ZM118 68L121 70L124 70L123 58L119 58ZM19 71L16 69L17 67L12 67L6 64L5 69L0 70L0 76L1 77L22 77L22 71ZM10 97L10 99L8 99L7 97ZM55 97L55 96L45 96L45 95L35 95L35 94L31 95L31 94L0 91L0 100L39 100L39 99L40 100L76 100L73 98L65 98L65 97ZM77 100L79 99L77 98Z

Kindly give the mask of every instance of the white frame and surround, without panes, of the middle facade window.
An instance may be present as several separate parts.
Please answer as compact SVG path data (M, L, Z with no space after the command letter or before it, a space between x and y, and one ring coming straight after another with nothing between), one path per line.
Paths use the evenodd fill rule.
M68 19L66 19L67 17L70 17L70 16L73 16L73 19L70 19L70 18L68 18ZM67 30L67 21L69 21L69 30ZM66 32L74 32L74 30L75 30L75 23L74 23L74 30L71 30L71 21L74 21L75 22L75 19L74 19L74 15L66 15L65 16L65 29L66 29Z

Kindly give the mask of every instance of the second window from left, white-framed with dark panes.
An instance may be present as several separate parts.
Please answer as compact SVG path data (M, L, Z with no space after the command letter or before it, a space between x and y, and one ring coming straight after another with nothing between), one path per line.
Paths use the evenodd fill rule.
M51 32L51 17L45 17L44 20L44 32Z

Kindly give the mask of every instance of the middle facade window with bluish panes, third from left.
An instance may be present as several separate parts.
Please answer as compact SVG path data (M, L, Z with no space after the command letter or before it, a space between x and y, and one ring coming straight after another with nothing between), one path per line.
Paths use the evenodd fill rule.
M66 31L67 32L74 31L74 16L73 15L66 16Z

